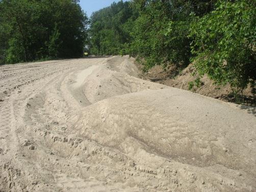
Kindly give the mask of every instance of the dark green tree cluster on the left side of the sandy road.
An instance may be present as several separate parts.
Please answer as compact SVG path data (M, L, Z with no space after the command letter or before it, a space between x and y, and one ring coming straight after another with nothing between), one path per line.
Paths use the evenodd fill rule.
M0 64L81 57L87 25L77 0L0 0Z

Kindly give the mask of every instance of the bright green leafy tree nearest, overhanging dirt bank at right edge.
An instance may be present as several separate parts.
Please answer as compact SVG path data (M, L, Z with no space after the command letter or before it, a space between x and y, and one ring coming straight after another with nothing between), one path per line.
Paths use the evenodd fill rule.
M192 61L199 76L241 92L256 80L255 1L218 1L216 9L191 24Z

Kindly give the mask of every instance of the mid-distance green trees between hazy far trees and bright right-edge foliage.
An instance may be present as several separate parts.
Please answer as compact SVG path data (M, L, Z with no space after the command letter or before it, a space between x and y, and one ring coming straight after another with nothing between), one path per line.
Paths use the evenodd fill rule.
M143 58L145 70L155 65L186 67L191 57L190 14L206 14L213 2L134 0L139 17L132 29L133 40L126 45L127 52Z

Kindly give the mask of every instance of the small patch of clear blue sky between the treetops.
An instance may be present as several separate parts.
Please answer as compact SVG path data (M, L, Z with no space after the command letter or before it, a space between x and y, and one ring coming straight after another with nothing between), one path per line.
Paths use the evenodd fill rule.
M80 5L88 17L92 12L110 6L113 2L119 2L120 0L80 0Z

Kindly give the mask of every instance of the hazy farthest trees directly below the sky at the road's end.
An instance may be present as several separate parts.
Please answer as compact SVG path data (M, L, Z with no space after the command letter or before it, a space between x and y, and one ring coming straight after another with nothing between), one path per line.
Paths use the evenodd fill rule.
M129 28L135 15L130 3L122 1L94 12L91 16L90 52L96 55L119 54L124 43L129 42Z

